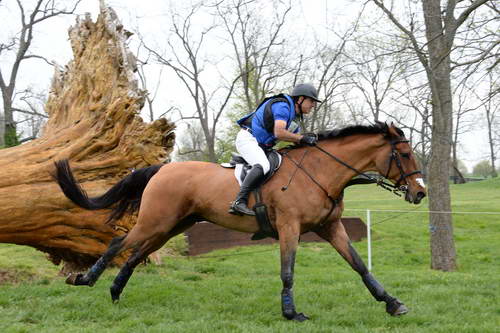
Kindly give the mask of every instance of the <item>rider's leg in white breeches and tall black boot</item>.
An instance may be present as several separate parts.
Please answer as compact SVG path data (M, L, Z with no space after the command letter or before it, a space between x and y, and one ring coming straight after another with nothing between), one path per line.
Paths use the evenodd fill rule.
M252 165L252 169L247 173L236 199L231 203L229 213L253 216L255 212L248 208L248 196L269 172L269 161L255 137L245 130L241 130L236 137L236 149Z

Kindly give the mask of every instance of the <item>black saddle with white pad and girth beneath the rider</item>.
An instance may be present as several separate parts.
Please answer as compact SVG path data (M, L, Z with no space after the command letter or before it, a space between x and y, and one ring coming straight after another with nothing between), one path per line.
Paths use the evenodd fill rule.
M253 210L255 211L255 217L259 224L259 231L257 231L253 236L252 240L259 240L266 237L272 237L278 239L278 232L274 230L269 219L269 214L267 213L267 206L262 202L262 185L264 185L271 177L278 171L281 165L281 154L276 150L266 151L267 159L271 165L269 172L266 174L264 181L253 191L255 195L255 206ZM252 168L250 164L239 154L232 153L231 160L227 163L221 163L223 168L233 169L234 176L238 183L243 183L248 170Z

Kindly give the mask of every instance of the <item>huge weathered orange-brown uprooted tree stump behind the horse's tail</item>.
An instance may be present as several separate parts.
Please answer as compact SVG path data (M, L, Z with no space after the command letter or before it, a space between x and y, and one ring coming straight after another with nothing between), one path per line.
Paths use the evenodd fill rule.
M111 8L101 2L97 21L77 19L69 35L74 59L56 70L43 136L0 150L0 242L35 247L55 264L80 270L135 217L111 226L104 223L108 212L77 208L51 178L54 161L68 158L89 195L102 194L133 168L164 161L174 125L165 119L146 124L138 116L145 92L134 79L128 32Z

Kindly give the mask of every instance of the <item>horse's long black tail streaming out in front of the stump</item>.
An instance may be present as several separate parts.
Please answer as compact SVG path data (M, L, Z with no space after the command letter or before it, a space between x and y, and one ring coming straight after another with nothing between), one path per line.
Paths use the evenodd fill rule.
M162 167L162 165L153 165L135 170L103 195L89 198L85 190L75 180L67 159L57 161L54 164L56 172L52 176L61 187L64 195L76 205L88 210L97 210L118 203L113 208L106 223L119 220L125 213L133 213L138 210L147 183Z

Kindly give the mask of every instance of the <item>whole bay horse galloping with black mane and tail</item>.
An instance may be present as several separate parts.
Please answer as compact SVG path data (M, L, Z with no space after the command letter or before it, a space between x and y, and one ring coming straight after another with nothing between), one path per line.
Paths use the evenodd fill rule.
M281 258L282 314L289 320L304 321L296 311L292 287L295 254L300 235L313 231L329 242L361 276L362 281L386 312L397 316L408 309L389 295L367 270L341 223L343 190L348 182L366 171L383 175L404 192L409 203L418 204L426 195L422 174L404 133L394 126L377 122L355 125L319 134L316 146L285 148L283 163L262 187L272 226L279 236ZM106 252L85 274L71 274L71 285L93 286L109 262L120 252L133 249L111 285L113 302L120 298L134 268L170 238L199 221L255 233L254 216L228 213L228 204L239 185L232 169L215 163L177 162L136 170L99 197L89 198L73 177L67 160L55 163L54 178L64 194L85 209L112 207L110 220L139 210L129 233L114 238ZM299 170L300 169L300 170ZM286 185L286 186L284 186ZM255 202L250 199L250 207Z

